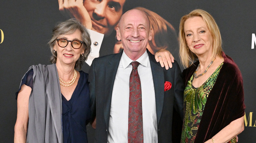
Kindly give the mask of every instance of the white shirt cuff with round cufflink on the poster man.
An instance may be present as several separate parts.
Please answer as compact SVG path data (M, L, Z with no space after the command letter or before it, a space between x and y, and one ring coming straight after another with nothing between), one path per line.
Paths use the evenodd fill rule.
M87 29L90 33L91 38L91 53L89 54L87 60L85 61L89 66L91 66L93 59L96 57L99 57L99 49L102 44L102 40L104 37L104 34L98 33L96 31Z

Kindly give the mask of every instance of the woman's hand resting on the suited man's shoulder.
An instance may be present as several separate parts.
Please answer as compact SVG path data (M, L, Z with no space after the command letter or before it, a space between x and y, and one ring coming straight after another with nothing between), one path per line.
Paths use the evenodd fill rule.
M172 68L172 63L174 62L174 57L172 54L165 50L165 49L160 49L156 54L155 54L155 59L157 62L160 62L161 67L165 67L166 70Z

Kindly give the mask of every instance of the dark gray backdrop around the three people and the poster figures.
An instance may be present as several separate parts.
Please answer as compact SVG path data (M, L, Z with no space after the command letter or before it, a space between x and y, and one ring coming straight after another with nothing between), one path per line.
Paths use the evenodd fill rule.
M171 48L168 50L178 61L178 41L175 40L175 35L178 36L180 18L197 8L206 10L215 18L221 31L224 52L237 63L244 79L246 109L245 130L238 136L241 143L253 143L256 140L255 6L254 0L210 0L205 2L200 0L127 0L124 7L124 11L135 7L146 8L171 24L175 31L170 39L174 40L165 36L160 37L158 41L169 44ZM68 14L62 14L59 11L57 0L0 2L1 142L13 142L17 114L15 92L18 90L22 76L31 65L50 64L51 52L47 43L51 38L52 28L57 22L69 18ZM169 29L173 31L172 28ZM99 52L100 56L112 54L116 42L118 47L115 31L108 37L104 36ZM88 68L89 66L84 64L82 70L87 72ZM88 125L87 133L88 139L91 141L94 132L90 125Z

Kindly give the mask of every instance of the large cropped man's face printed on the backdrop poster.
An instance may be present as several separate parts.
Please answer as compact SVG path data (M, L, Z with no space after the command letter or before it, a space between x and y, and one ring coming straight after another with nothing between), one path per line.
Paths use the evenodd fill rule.
M84 0L92 20L92 30L109 36L117 25L125 0Z

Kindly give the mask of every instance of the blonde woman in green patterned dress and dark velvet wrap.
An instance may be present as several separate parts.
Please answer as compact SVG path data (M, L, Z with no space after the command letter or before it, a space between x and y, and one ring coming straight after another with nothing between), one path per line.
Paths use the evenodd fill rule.
M218 25L208 12L193 10L181 18L179 41L186 68L181 143L236 143L244 130L243 79L222 50Z

